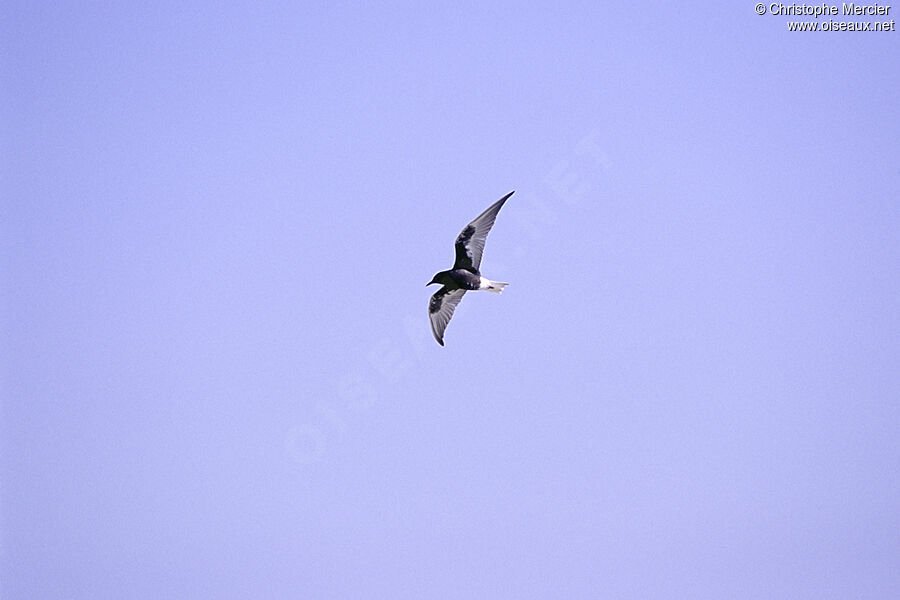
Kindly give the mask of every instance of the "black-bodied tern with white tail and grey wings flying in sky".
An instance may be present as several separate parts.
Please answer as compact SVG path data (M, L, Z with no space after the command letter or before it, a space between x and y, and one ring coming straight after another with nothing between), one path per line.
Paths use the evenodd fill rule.
M456 305L468 291L487 290L499 294L508 283L491 281L481 276L478 267L481 266L481 253L484 252L484 242L497 213L503 208L503 203L515 193L515 190L503 196L487 210L475 217L471 223L465 226L456 238L456 262L449 271L441 271L435 275L425 287L433 283L441 285L441 289L435 292L428 302L428 317L431 319L431 333L438 344L444 345L444 330L447 323L453 317Z

